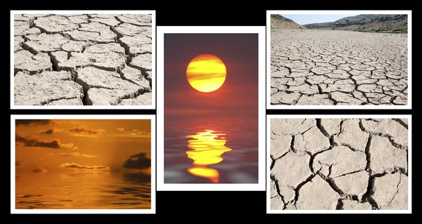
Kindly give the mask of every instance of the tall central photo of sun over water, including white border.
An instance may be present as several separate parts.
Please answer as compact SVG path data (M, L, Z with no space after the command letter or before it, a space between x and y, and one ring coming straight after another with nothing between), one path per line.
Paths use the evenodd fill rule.
M243 35L244 34L244 35ZM250 34L250 35L248 35ZM257 34L257 37L253 34ZM167 36L166 36L167 35ZM177 37L179 35L179 37ZM215 35L215 36L212 36ZM225 36L226 35L226 36ZM190 44L193 44L192 46L196 46L191 48L190 50L186 49L184 52L180 52L181 55L184 55L184 58L188 58L188 60L183 60L181 62L176 62L176 60L173 60L174 57L177 57L177 55L174 55L174 53L169 56L172 58L171 63L166 62L165 64L165 52L168 52L170 49L177 48L177 50L174 50L176 52L181 51L179 48L180 46L175 41L172 41L172 45L170 45L169 42L170 38L165 38L172 36L172 40L177 40L179 43L183 43L184 46L191 46ZM227 39L223 38L226 37ZM234 64L234 60L230 60L224 58L224 46L226 46L226 52L227 54L238 54L239 52L232 52L229 49L233 49L234 47L238 46L249 46L245 45L248 41L245 41L245 39L239 40L237 43L234 41L233 45L231 46L231 43L229 39L236 39L236 37L253 37L255 38L255 43L257 43L257 49L255 44L252 44L250 48L244 48L241 50L241 52L245 54L250 54L250 51L257 51L257 55L255 53L255 59L251 62L251 65L245 65L245 62L239 60L242 58L235 58L236 62ZM184 38L187 37L188 40L185 40ZM198 39L196 42L191 41L195 37ZM215 37L215 39L214 39ZM157 190L164 191L164 190L172 190L172 191L196 191L196 190L252 190L252 191L264 191L265 190L265 140L264 140L264 134L265 134L265 95L264 95L264 89L265 89L265 27L158 27L157 28L157 52L158 52L158 58L157 58L157 79L158 79L158 93L157 93ZM201 39L203 38L203 39ZM217 41L218 39L222 39L222 41ZM166 40L166 42L165 42ZM257 42L256 42L257 41ZM198 44L199 43L199 44ZM212 43L212 44L210 44ZM249 42L248 42L249 43ZM252 41L252 43L254 43ZM200 44L203 44L203 47L200 47ZM207 45L208 44L208 45ZM227 44L227 45L225 45ZM216 49L210 48L210 46L215 46ZM165 50L167 48L167 50ZM192 50L193 49L193 50ZM200 52L199 50L202 49ZM216 51L214 51L216 50ZM192 55L186 56L186 51L188 53L191 53ZM193 53L195 52L195 53ZM220 52L216 53L215 57L212 55L212 52ZM177 54L177 53L176 53ZM253 54L253 53L252 53ZM179 55L179 59L181 58L181 55ZM198 56L197 56L198 55ZM222 56L220 56L222 55ZM201 72L199 68L196 68L196 65L202 65L209 66L211 64L208 64L208 62L200 62L201 57L203 60L210 59L210 63L218 63L217 65L212 65L212 74L220 75L223 74L223 79L215 79L214 81L210 82L210 85L203 84L201 85L200 82L195 83L195 75L196 74L205 74L210 73L209 71ZM221 58L217 58L221 57ZM231 57L233 58L233 57ZM179 60L178 59L178 60ZM221 60L220 60L221 59ZM167 59L168 61L168 59ZM191 61L191 62L189 62ZM195 65L195 61L199 63ZM229 64L229 61L231 64ZM227 62L224 66L224 62ZM242 64L243 63L243 64ZM257 65L256 65L257 64ZM177 79L169 76L169 74L165 74L165 72L169 72L167 66L171 65L170 69L172 74L174 76L179 77L181 76L181 81L177 82ZM195 65L191 67L191 65ZM165 67L167 67L167 70L165 71ZM189 68L191 67L191 69ZM244 67L251 67L251 70L248 71L249 73L257 71L257 77L253 76L245 76L245 80L241 81L234 81L235 70L239 71L239 69L245 69ZM227 68L227 70L226 70ZM199 73L196 73L198 72ZM186 73L185 73L186 72ZM210 77L209 74L205 77ZM250 78L252 77L252 78ZM169 84L169 79L172 78L172 80L175 79L174 86ZM187 80L186 80L187 78ZM224 82L225 79L225 82ZM237 78L236 78L237 79ZM249 79L249 80L248 80ZM255 80L253 84L248 84L248 81ZM198 79L199 80L199 79ZM223 81L221 81L223 80ZM167 82L166 82L167 81ZM199 80L200 81L200 80ZM216 81L219 82L216 84ZM243 105L239 108L235 108L233 105L236 105L236 103L239 103L236 99L233 97L233 93L241 93L236 88L244 88L245 86L242 86L243 83L248 84L250 86L250 91L252 91L254 94L251 97L251 99L248 101L247 99L242 100L240 103L243 103L243 105L247 105L257 102L257 105L252 105L248 108L255 107L256 113L255 117L253 117L252 126L250 126L251 130L254 130L250 138L247 139L248 133L245 133L245 136L241 136L241 133L239 130L243 130L241 128L238 128L238 122L233 120L233 123L231 121L227 121L223 119L216 118L219 117L219 114L234 114L238 112L239 116L242 117L242 112L239 110L243 108ZM191 86L189 86L189 84ZM212 84L212 85L211 85ZM238 84L238 85L237 85ZM178 91L177 86L180 86L181 88L185 88L184 92ZM167 86L167 89L165 89L165 86ZM169 94L170 89L169 86L171 86L171 93L179 93L177 94ZM186 87L188 86L188 87ZM230 87L229 87L230 86ZM239 87L241 86L241 87ZM220 88L221 87L221 88ZM209 89L212 88L212 89ZM257 92L255 93L255 88L257 88ZM214 91L213 93L210 93ZM166 94L167 93L167 94ZM188 94L187 94L188 93ZM245 93L247 94L247 93ZM166 96L165 96L166 95ZM198 96L199 95L199 96ZM227 98L222 98L222 95L226 95ZM165 108L165 105L170 105L170 103L173 103L174 100L177 100L177 98L186 98L186 103L183 105L186 105L186 108L177 108L174 109L174 107L171 107L171 110L169 110L169 107L167 106L167 110ZM257 100L252 98L257 98ZM188 99L191 98L192 104L201 102L204 103L205 106L203 108L201 107L193 107L191 103L189 103ZM218 100L216 100L218 99ZM238 98L237 98L238 99ZM166 101L167 100L167 101ZM232 101L230 101L232 100ZM247 102L248 101L248 102ZM167 102L167 103L165 103ZM222 104L227 105L226 108L223 110L220 110L220 106ZM233 105L230 105L233 103ZM218 105L217 110L212 108L212 105ZM211 112L208 112L207 110L211 110ZM239 111L238 111L239 110ZM255 109L254 109L255 110ZM252 110L252 111L254 111ZM245 110L245 113L250 113L250 110ZM174 117L173 114L177 114L177 116L184 116L184 120L186 121L186 124L181 124L179 122L179 119L172 119L171 121L168 119L167 115L167 121L165 114L172 114L172 118ZM203 115L210 115L208 118L202 119ZM186 118L186 115L188 116ZM225 115L225 114L224 114ZM190 117L190 118L189 118ZM223 116L224 117L224 116ZM257 118L256 118L257 117ZM201 119L198 119L201 118ZM236 117L235 117L236 118ZM187 119L187 120L186 120ZM237 118L236 118L237 119ZM256 121L257 119L257 121ZM247 124L249 124L248 120L244 120ZM179 122L179 123L178 123ZM227 124L226 122L229 122ZM237 122L237 123L236 123ZM256 122L256 124L255 124ZM176 124L177 123L177 124ZM183 122L182 122L183 123ZM233 124L231 126L230 124ZM169 130L170 128L179 126L180 131L179 134L172 137L169 136L170 133L166 133L166 129ZM222 128L224 126L224 128ZM245 125L243 125L245 126ZM257 127L256 127L257 126ZM191 130L191 128L195 130ZM216 129L216 130L213 130ZM223 130L217 130L217 129L223 129ZM227 130L229 129L229 130ZM236 129L236 130L235 130ZM238 130L239 129L239 130ZM177 129L172 129L177 130ZM187 131L186 131L187 130ZM202 130L202 131L200 131ZM255 131L257 130L257 131ZM246 130L248 131L248 130ZM188 135L184 136L184 134L188 133ZM206 132L206 133L205 133ZM174 133L174 131L172 131ZM233 133L237 133L236 135L236 142L238 142L241 139L244 139L245 144L239 144L237 143L236 147L231 148L230 138L235 138ZM167 136L167 139L166 139ZM257 140L255 140L255 136L257 136ZM171 140L174 138L177 140L177 143L172 143L172 147L170 149L166 149L165 142ZM183 138L183 139L182 139ZM246 138L246 139L245 139ZM254 143L249 143L255 141ZM253 144L253 148L251 145ZM198 150L196 149L196 145L198 147L201 147L203 145L204 147L210 148L208 150L209 153L204 153L204 150ZM168 147L168 145L167 145ZM167 150L167 153L165 153L165 150ZM177 150L177 151L176 151ZM242 150L245 150L245 153L242 154ZM168 152L171 151L171 154L168 154ZM229 152L231 151L231 152ZM177 154L176 154L177 153ZM224 154L223 154L224 153ZM165 169L165 157L167 155L167 161L172 160L171 157L174 157L174 159L178 159L178 161L182 162L179 165L176 164L172 167L177 167L176 170L172 169ZM254 162L248 162L248 158L250 160L250 155L253 155L255 158ZM245 160L245 162L242 162L242 159ZM253 158L252 158L253 159ZM236 161L240 164L236 164ZM257 162L256 162L257 161ZM226 165L228 164L229 165ZM210 167L207 167L210 166ZM228 167L234 167L232 171L228 170ZM248 167L248 169L242 169L242 167ZM167 167L167 166L166 166ZM252 167L252 168L250 168ZM257 167L257 168L255 168ZM195 170L196 169L196 170ZM222 174L223 173L223 174ZM257 175L257 178L251 179L252 176ZM181 178L181 180L177 180L176 177ZM165 179L167 178L167 181ZM203 179L201 179L203 178ZM168 181L171 179L172 181ZM191 181L193 180L193 181ZM250 180L255 180L254 182Z

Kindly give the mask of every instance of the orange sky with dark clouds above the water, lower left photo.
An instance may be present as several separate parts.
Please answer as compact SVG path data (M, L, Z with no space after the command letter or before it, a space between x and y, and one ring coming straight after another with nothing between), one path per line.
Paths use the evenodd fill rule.
M15 134L17 174L132 171L151 164L149 119L20 119Z

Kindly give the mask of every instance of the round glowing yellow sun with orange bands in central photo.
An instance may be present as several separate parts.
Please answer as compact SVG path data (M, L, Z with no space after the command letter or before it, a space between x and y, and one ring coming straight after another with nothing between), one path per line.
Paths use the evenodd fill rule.
M198 55L189 62L186 78L197 91L210 93L226 81L226 65L215 55Z

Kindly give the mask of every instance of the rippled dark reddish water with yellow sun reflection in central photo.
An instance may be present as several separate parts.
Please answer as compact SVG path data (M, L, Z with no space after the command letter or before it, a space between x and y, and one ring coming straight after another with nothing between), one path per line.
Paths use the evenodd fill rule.
M257 183L257 117L165 116L165 183Z

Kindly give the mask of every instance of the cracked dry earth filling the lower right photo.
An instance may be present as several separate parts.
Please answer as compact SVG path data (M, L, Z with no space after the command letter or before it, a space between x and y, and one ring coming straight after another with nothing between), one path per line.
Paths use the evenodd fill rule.
M271 119L271 210L407 210L407 119Z

